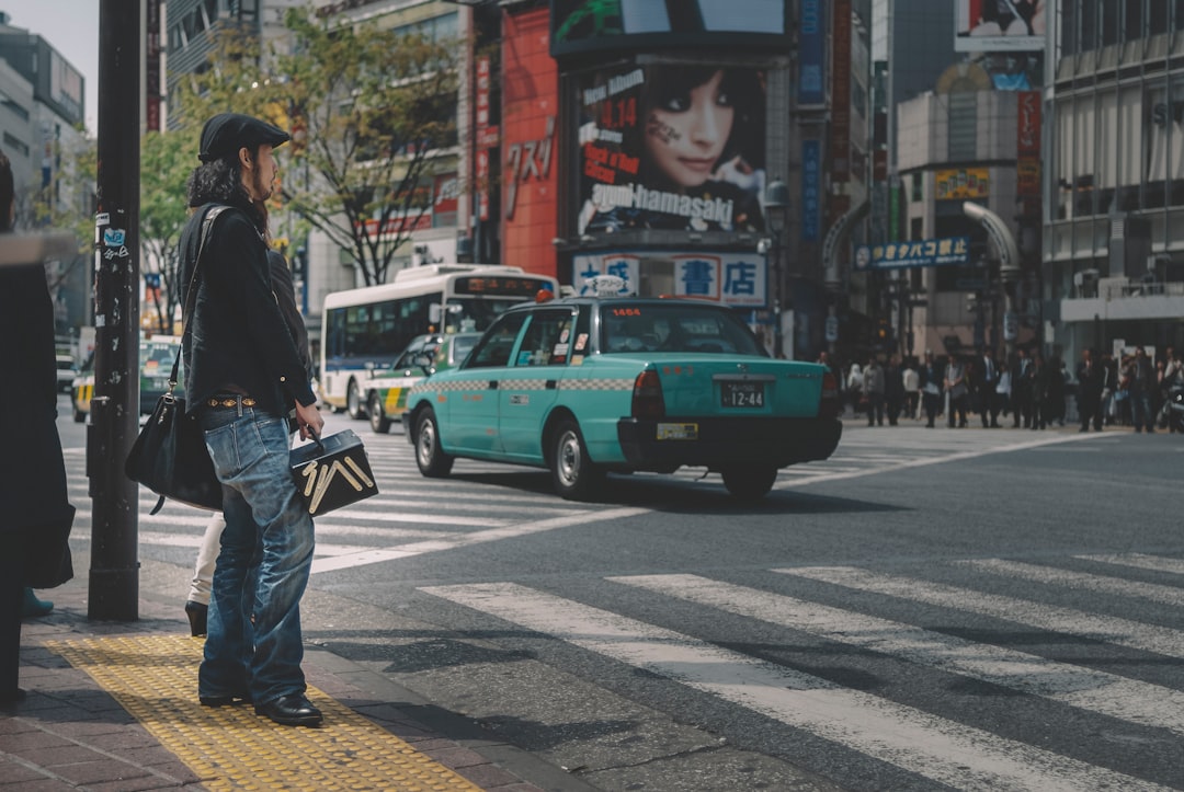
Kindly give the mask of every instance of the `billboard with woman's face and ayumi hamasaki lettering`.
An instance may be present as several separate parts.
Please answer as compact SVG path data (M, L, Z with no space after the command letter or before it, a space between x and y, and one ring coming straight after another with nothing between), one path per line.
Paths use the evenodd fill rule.
M577 233L765 228L761 70L626 64L574 84Z

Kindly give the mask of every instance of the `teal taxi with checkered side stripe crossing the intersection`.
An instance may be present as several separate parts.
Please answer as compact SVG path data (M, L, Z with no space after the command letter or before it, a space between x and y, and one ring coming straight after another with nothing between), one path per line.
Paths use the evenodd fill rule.
M565 297L507 310L457 368L411 388L424 476L466 457L547 468L594 500L609 472L706 466L736 498L838 445L825 366L774 360L732 309L699 300Z

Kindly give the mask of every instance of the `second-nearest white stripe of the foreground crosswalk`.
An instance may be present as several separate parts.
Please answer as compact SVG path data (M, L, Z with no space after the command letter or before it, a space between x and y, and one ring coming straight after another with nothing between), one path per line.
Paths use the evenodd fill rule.
M1184 734L1184 691L1163 685L693 574L606 580Z

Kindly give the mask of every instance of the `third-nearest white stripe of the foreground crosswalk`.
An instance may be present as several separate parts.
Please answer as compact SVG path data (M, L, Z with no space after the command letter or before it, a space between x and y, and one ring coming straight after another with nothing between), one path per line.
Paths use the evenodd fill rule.
M1051 632L1105 640L1140 651L1184 659L1184 632L1113 616L1086 613L1012 597L928 582L916 578L877 574L856 567L797 567L773 572L888 594L939 607L991 616Z

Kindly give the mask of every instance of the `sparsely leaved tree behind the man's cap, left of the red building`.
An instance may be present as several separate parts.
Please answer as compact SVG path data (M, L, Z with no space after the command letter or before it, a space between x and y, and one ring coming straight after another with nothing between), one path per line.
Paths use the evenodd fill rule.
M292 133L281 149L283 208L385 283L431 208L456 146L456 41L292 8L287 47L218 37L210 67L182 81L184 125L247 112ZM193 150L197 150L195 147ZM175 187L174 187L175 189Z

